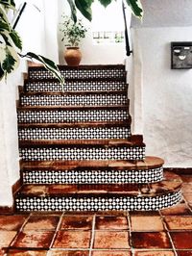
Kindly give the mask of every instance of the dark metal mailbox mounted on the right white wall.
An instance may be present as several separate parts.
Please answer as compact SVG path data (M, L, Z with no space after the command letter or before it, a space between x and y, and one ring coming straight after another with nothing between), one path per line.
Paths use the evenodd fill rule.
M192 41L171 42L171 68L192 68Z

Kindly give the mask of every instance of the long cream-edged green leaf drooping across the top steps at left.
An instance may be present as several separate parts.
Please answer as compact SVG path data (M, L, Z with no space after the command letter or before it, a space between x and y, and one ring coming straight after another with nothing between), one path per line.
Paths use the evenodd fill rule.
M60 84L64 84L64 78L60 74L60 70L58 69L58 66L51 60L41 56L41 55L36 55L33 52L28 52L25 56L30 59L35 59L39 63L43 64L46 69L48 69L57 79L59 79Z

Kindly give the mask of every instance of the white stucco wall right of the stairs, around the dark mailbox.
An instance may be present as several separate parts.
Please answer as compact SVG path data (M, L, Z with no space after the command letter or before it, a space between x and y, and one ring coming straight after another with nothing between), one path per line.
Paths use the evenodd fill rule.
M171 69L170 42L191 41L192 24L183 26L183 20L187 25L192 20L189 22L188 11L187 21L186 17L182 19L184 13L179 12L178 1L142 2L147 18L143 24L132 22L132 88L137 95L133 109L142 111L142 115L132 116L135 131L141 128L139 132L143 133L147 154L164 158L165 166L191 167L192 69ZM185 4L189 8L192 3L183 1L183 11L186 11ZM170 21L171 10L180 13L180 18L175 19L173 15ZM160 13L161 16L164 14L163 18Z

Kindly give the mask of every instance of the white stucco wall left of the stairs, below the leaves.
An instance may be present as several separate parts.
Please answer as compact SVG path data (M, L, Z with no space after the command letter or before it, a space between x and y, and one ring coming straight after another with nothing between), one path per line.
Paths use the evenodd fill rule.
M0 206L12 206L12 185L19 179L16 77L0 82Z

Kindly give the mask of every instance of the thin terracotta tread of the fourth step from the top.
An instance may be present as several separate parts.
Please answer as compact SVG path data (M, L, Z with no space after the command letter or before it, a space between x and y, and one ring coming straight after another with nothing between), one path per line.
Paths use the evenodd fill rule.
M67 110L129 110L129 105L114 105L114 106L19 106L17 111L67 111Z

